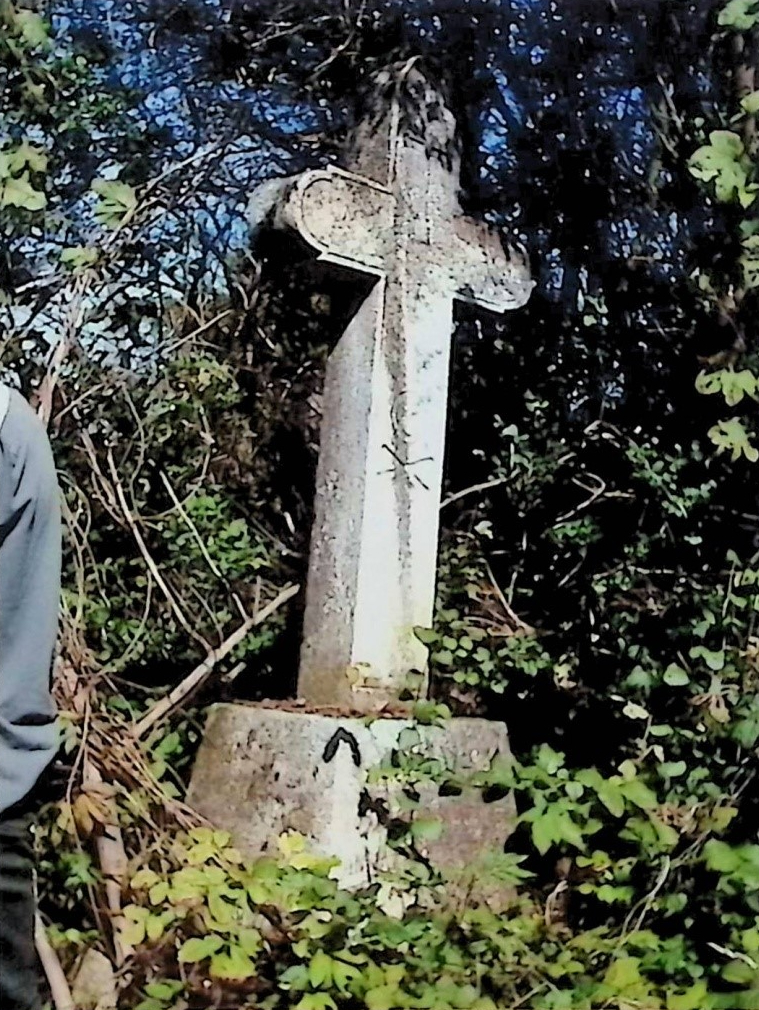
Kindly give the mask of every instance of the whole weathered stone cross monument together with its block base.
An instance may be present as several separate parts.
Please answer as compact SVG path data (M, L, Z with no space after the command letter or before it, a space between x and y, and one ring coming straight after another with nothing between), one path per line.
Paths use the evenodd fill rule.
M340 857L347 886L394 862L381 811L399 787L370 788L372 770L410 748L439 778L466 778L509 753L502 724L413 728L399 699L414 672L425 690L415 629L433 620L454 303L504 312L532 290L524 263L463 214L455 123L422 75L396 83L354 150L351 171L299 177L275 215L325 263L374 279L326 369L303 708L217 706L190 788L243 849L298 830ZM444 797L435 782L420 793L444 824L424 853L442 870L502 848L510 798L485 804L470 788Z

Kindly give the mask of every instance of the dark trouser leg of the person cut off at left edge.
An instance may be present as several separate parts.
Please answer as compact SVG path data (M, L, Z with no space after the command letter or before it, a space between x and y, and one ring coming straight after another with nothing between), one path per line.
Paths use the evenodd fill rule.
M0 814L0 1008L39 1010L34 948L32 816L18 807Z

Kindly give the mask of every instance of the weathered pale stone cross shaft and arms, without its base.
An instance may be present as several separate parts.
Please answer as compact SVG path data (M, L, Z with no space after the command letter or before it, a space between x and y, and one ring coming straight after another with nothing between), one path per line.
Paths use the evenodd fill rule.
M404 91L359 129L351 172L300 176L277 215L376 279L326 368L298 682L312 705L360 712L426 666L414 628L433 619L454 302L504 312L533 287L461 210L440 95L416 71Z

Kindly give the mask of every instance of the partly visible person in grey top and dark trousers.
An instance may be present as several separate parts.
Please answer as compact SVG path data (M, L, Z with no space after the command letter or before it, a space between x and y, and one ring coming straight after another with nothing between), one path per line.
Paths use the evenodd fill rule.
M58 746L51 666L61 520L43 426L13 394L0 426L0 1010L38 1010L30 812Z

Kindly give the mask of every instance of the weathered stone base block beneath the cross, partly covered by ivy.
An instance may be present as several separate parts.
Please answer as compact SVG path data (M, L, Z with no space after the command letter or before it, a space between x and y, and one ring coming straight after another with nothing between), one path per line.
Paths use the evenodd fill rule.
M401 798L399 777L420 771L412 816L437 819L442 833L429 832L429 840L421 833L416 847L461 883L463 871L502 851L513 828L513 800L485 803L471 787L442 796L440 782L466 779L508 755L505 726L483 719L456 718L437 727L219 705L209 714L188 798L230 831L247 854L276 850L277 838L294 830L312 851L340 860L341 884L357 888L397 869L383 822ZM384 776L398 759L400 768ZM430 771L434 781L424 781Z

